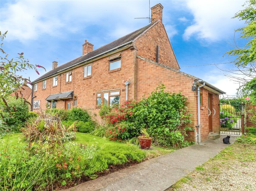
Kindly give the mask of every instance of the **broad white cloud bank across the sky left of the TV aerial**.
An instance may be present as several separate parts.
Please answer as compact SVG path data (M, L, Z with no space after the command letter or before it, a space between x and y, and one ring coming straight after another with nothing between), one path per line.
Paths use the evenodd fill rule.
M113 35L123 35L138 28L146 15L142 1L11 1L1 6L1 31L8 30L6 40L25 42L42 35L67 36L90 25L108 28ZM145 22L144 22L145 23ZM126 28L115 27L125 25ZM120 30L120 31L119 31ZM106 31L107 33L110 31ZM65 34L66 33L66 34ZM121 36L118 36L121 37Z

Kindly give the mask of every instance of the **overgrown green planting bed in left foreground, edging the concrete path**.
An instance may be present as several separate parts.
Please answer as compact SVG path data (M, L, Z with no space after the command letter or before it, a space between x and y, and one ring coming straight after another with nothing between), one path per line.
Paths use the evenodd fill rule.
M0 144L0 190L59 190L82 176L96 178L109 166L140 162L146 157L133 145L93 145L39 142L5 149ZM59 188L59 189L57 189Z

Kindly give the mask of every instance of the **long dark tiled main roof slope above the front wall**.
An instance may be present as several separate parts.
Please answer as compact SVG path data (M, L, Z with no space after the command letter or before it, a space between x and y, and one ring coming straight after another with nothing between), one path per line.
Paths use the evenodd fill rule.
M149 24L149 25L147 25L145 27L142 27L142 28L140 28L138 30L135 30L134 32L129 33L128 35L125 35L125 36L123 36L121 38L118 38L117 40L115 40L115 41L113 41L111 43L108 43L108 44L106 44L106 45L104 45L104 46L102 46L102 47L100 47L100 48L98 48L98 49L96 49L96 50L94 50L92 52L89 52L88 54L85 54L83 56L80 56L80 57L72 60L72 61L69 61L66 64L62 64L59 67L57 67L57 68L55 68L53 70L50 70L46 74L44 74L41 77L37 78L32 83L37 82L39 80L42 80L42 79L44 79L46 77L49 77L51 75L57 74L61 70L64 70L64 69L69 68L69 67L72 67L73 65L78 64L78 63L80 63L82 61L88 60L88 59L90 59L90 58L92 58L94 56L97 56L99 54L102 54L102 53L104 53L104 52L106 52L108 50L111 50L111 49L116 48L118 46L121 46L121 45L123 45L125 43L133 41L138 36L140 36L144 31L146 31L148 28L150 28L152 25L154 25L155 23L156 22L151 23L151 24Z

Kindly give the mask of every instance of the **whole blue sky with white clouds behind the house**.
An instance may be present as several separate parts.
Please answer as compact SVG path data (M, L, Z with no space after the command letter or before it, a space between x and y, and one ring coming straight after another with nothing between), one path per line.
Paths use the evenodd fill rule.
M232 19L243 9L244 1L150 1L161 3L163 23L181 71L195 75L235 95L237 84L227 79L216 66L185 67L232 61L223 57L232 49L234 30L244 25ZM82 55L87 39L94 49L148 25L148 1L0 1L1 31L8 30L4 51L9 57L24 52L33 64L52 68ZM237 39L239 34L236 34ZM238 40L238 45L245 42ZM220 64L222 69L232 68ZM39 70L40 75L45 73ZM35 80L32 71L24 77Z

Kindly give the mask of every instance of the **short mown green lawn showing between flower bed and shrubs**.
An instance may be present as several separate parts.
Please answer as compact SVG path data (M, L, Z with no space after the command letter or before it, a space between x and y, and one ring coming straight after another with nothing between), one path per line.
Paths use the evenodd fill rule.
M8 146L14 146L14 145L18 145L18 144L19 145L26 144L24 142L24 136L22 133L14 133L14 134L6 135L3 137L3 140L4 140L4 144L6 144L7 140L8 140ZM104 147L107 145L110 145L110 146L118 146L118 145L121 146L124 144L127 145L127 143L111 141L106 137L97 137L97 136L91 135L89 133L80 133L80 132L76 132L76 139L71 142L83 144L83 145L93 144L93 145L98 145L100 147ZM164 155L164 154L170 153L172 151L173 151L173 149L152 147L151 150L145 150L145 152L147 154L146 159Z

